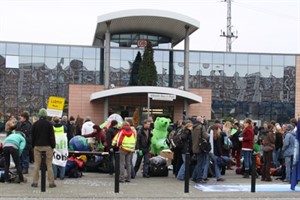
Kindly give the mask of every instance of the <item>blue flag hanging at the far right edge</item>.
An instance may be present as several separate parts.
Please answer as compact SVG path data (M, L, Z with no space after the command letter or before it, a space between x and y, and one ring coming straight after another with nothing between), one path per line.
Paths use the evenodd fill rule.
M296 130L296 141L295 141L293 167L292 167L292 175L291 175L291 190L295 190L296 185L300 181L299 142L300 142L300 118L298 118L297 130Z

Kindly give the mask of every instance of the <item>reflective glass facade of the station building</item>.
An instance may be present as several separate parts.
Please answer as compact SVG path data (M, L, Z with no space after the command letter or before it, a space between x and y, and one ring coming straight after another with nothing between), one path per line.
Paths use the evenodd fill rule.
M112 45L110 83L128 85L138 51ZM49 96L68 99L69 84L103 84L103 57L95 47L0 42L0 112L34 114ZM184 85L183 50L155 48L154 61L158 86ZM212 89L212 119L294 117L295 55L191 51L189 62L189 87Z

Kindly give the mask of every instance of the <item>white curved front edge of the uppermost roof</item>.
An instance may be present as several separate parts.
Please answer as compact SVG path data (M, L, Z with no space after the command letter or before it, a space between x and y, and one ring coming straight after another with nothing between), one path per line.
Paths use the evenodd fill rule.
M183 21L185 23L191 24L197 28L200 27L200 22L189 16L171 12L171 11L157 10L157 9L130 9L130 10L116 11L116 12L98 16L97 23L102 23L102 22L106 22L106 21L110 21L110 20L118 19L118 18L123 18L123 17L133 17L133 16L151 16L151 17L171 18L171 19L175 19L178 21Z

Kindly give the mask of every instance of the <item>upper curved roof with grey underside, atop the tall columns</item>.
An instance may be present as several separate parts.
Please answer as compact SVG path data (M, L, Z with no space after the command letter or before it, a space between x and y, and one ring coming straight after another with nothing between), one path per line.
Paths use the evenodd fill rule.
M93 46L104 40L106 22L110 22L110 33L145 33L171 38L172 46L185 38L185 26L189 26L188 35L199 28L200 22L175 12L151 9L133 9L109 13L98 17Z

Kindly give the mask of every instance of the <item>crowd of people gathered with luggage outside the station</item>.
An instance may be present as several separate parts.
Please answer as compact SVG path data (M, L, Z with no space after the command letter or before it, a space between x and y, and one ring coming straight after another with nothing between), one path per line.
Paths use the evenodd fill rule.
M151 137L153 119L144 120L137 128L132 119L122 124L112 120L108 127L100 128L89 117L73 116L47 117L47 111L41 109L38 119L31 118L23 112L18 120L11 117L5 124L6 139L3 141L3 157L5 160L5 182L9 183L9 165L12 157L19 176L19 183L26 182L23 174L28 174L29 164L34 163L33 181L31 186L38 187L41 165L40 152L46 152L46 165L49 187L56 187L55 179L64 179L64 168L53 164L53 149L56 147L57 134L66 133L67 140L74 136L95 138L101 143L103 151L108 152L109 174L115 172L115 152L120 152L121 183L130 182L140 170L144 178L149 178L151 156ZM272 181L271 168L282 170L282 180L290 182L291 163L294 153L296 136L296 119L289 124L275 121L263 123L257 127L251 119L246 118L240 123L215 120L208 123L204 117L179 120L168 129L167 144L173 152L173 174L178 180L185 179L186 155L190 153L190 178L195 183L205 184L209 177L223 182L226 170L240 171L243 178L249 178L252 169L252 156L256 155L260 164L257 165L257 176L261 181ZM172 136L171 133L173 132ZM180 138L181 145L171 145L171 137ZM132 162L136 153L136 162ZM143 161L143 166L141 167ZM59 171L59 174L58 174Z

